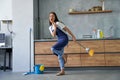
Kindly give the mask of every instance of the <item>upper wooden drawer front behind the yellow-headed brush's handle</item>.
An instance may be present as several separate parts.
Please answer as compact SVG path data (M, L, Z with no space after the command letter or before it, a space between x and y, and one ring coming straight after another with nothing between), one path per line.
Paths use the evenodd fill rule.
M95 52L104 52L103 40L79 41L84 47L93 49ZM85 49L81 47L81 53L86 53Z

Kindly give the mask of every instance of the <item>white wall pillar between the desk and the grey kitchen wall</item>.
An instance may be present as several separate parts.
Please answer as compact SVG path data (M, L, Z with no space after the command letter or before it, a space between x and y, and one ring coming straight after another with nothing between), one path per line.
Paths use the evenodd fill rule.
M33 34L33 0L12 0L13 10L13 72L29 71L30 39ZM31 38L33 65L33 35ZM32 67L31 67L32 68Z

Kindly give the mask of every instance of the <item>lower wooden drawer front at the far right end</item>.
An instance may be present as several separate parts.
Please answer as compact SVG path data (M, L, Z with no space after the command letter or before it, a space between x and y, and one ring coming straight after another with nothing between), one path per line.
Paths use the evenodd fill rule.
M106 66L120 66L120 53L105 54Z

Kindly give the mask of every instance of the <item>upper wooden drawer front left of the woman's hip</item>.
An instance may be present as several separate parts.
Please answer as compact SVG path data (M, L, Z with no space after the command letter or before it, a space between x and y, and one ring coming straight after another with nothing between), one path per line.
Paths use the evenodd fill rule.
M35 54L52 54L51 47L55 42L35 42Z

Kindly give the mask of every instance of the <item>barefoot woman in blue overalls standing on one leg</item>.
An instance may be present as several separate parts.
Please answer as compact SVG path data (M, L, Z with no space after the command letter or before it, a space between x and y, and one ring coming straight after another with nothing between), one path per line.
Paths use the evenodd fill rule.
M61 69L61 71L57 73L57 76L64 75L65 74L64 64L66 63L67 59L64 57L63 53L64 47L68 44L69 41L66 32L68 32L72 36L73 41L76 41L76 38L73 35L73 33L63 23L59 22L55 12L49 13L49 24L50 24L49 30L51 35L53 37L57 36L58 39L57 43L51 48L52 52L58 56L59 65Z

